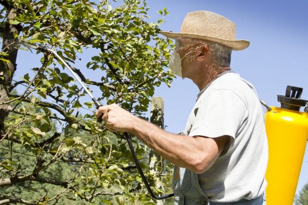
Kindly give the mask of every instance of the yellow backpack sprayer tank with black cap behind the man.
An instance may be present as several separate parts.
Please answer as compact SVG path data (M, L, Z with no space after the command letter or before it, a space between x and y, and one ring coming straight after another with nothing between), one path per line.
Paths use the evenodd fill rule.
M302 88L287 86L285 96L278 95L281 107L267 107L266 205L293 204L308 139L307 100L300 99L301 93Z

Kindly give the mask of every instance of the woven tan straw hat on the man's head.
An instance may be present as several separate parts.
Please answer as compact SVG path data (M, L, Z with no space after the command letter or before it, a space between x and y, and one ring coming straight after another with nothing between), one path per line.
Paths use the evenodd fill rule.
M229 19L210 11L194 11L187 13L180 33L162 31L166 37L188 37L209 40L233 50L243 50L249 46L247 40L235 39L236 25Z

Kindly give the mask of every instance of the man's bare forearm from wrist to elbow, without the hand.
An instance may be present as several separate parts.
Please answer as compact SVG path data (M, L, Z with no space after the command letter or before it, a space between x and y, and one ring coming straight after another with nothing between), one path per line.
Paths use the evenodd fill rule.
M202 173L217 158L209 152L208 138L172 134L138 117L133 119L129 132L171 163L194 172Z

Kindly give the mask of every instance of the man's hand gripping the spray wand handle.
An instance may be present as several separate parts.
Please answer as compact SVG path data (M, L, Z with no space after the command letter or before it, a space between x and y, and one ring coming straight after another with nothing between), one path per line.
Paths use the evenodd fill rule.
M111 132L130 131L133 128L133 120L136 118L130 112L122 109L116 104L101 106L95 113L98 118L104 113L102 119L106 122L106 128Z

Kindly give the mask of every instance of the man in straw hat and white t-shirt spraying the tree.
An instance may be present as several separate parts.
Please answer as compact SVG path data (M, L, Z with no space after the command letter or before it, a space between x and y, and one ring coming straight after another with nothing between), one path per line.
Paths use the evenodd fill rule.
M168 133L117 105L100 107L110 131L127 131L176 165L175 204L262 204L267 140L254 87L230 70L235 24L209 11L188 13L176 40L171 70L200 89L185 131Z

